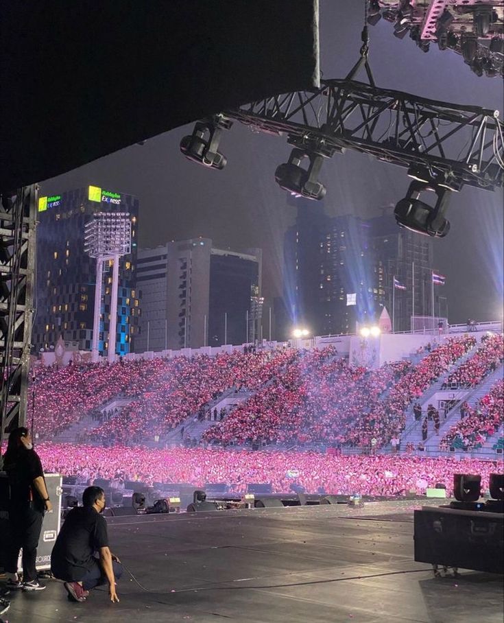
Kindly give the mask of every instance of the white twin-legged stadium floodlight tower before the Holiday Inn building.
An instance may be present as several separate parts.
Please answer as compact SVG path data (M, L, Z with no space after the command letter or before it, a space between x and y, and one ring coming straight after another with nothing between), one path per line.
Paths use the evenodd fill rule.
M99 321L104 262L112 260L108 361L115 359L119 258L131 252L131 221L128 212L97 212L84 226L84 251L96 258L95 316L93 318L93 362L98 361Z

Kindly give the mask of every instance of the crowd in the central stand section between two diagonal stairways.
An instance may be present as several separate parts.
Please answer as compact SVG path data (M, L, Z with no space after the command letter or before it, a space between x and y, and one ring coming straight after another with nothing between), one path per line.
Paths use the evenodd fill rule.
M379 449L403 430L409 404L475 344L472 336L449 338L416 366L393 362L375 371L324 358L325 351L305 353L208 429L204 440Z

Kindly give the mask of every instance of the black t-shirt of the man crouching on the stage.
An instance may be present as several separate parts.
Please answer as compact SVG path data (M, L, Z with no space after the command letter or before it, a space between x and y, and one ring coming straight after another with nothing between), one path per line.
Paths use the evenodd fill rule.
M51 554L51 572L66 582L79 582L95 564L93 554L108 548L107 522L92 507L72 508Z

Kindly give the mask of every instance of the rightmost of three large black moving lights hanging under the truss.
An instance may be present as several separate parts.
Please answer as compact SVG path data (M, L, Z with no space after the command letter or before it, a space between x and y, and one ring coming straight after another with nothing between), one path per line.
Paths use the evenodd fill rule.
M431 190L437 195L434 207L420 201L422 191ZM450 222L444 218L448 209L448 189L438 185L413 181L409 185L407 195L401 199L394 209L394 216L399 226L425 236L443 238L450 231Z

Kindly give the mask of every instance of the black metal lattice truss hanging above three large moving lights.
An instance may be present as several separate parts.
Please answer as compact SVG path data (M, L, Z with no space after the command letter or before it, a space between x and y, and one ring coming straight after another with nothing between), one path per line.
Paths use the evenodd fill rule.
M252 130L287 135L306 154L346 149L407 167L451 190L503 185L499 111L425 99L355 80L322 80L313 92L287 93L228 110Z

